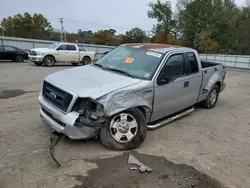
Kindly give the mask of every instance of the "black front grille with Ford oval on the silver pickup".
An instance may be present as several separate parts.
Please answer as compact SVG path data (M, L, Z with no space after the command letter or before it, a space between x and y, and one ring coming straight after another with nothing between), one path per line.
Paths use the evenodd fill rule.
M67 111L73 96L48 82L43 83L43 97L57 108Z

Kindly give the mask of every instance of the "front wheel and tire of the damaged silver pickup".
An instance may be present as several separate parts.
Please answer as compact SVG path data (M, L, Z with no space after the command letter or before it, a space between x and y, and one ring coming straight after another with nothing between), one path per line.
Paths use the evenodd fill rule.
M125 118L124 115L127 115ZM125 126L122 125L122 122L116 122L115 120L120 119L121 117L124 118ZM130 121L134 118L134 121ZM127 121L125 121L127 119ZM126 125L126 122L129 122L129 125ZM134 123L132 123L134 122ZM137 127L135 127L137 124ZM119 129L122 129L119 131L119 129L115 129L114 127L117 126ZM121 127L123 126L123 127ZM116 131L115 131L116 130ZM127 131L127 132L126 132ZM117 133L120 133L118 135L120 136L120 141L117 141L119 136L116 136ZM132 133L132 134L131 134ZM125 136L129 135L129 136ZM145 140L147 135L147 124L145 120L145 116L142 114L142 112L138 109L128 109L124 112L121 112L111 118L109 118L104 126L100 130L100 140L101 143L108 149L115 150L115 151L122 151L122 150L131 150L135 149L138 146L140 146L143 141ZM122 140L123 139L123 140Z

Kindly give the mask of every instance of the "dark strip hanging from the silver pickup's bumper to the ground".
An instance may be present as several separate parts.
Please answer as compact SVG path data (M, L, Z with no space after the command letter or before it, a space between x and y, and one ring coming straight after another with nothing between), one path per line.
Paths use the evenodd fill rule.
M57 145L57 143L59 142L59 140L62 138L62 134L57 133L55 131L52 131L49 137L49 153L52 157L52 159L54 160L54 162L57 164L57 166L61 166L61 164L59 163L59 161L55 158L55 147Z

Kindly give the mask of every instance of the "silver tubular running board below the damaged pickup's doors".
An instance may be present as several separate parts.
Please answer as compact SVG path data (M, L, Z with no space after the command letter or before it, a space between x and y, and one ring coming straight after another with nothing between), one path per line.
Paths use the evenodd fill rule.
M174 116L171 116L168 119L165 119L165 120L163 120L163 121L161 121L161 122L159 122L157 124L148 125L148 129L150 129L150 130L157 129L157 128L162 127L163 125L166 125L166 124L168 124L168 123L170 123L170 122L172 122L172 121L174 121L176 119L179 119L179 118L181 118L181 117L183 117L183 116L185 116L187 114L190 114L193 111L194 111L194 107L192 106L191 108L188 108L187 110L182 111L179 114L176 114Z

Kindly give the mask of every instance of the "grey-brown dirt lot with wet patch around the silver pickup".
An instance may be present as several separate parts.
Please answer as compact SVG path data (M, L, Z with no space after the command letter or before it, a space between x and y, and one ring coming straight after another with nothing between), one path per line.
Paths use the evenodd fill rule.
M129 170L128 152L110 151L99 140L62 139L56 148L62 166L52 161L37 97L44 76L71 67L0 63L1 188L250 187L250 71L228 70L216 108L197 107L149 131L132 151L153 169L141 174Z

